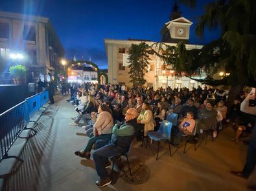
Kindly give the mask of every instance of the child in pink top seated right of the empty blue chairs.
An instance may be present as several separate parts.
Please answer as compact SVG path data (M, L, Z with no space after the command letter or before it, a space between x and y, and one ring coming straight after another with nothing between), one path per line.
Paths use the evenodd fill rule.
M196 121L194 121L194 114L192 112L187 112L187 116L181 121L179 125L179 132L176 135L176 144L178 145L183 135L191 135Z

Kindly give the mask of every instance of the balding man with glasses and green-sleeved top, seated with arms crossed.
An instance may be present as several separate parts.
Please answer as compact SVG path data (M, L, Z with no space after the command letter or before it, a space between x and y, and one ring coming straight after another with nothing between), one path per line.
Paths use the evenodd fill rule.
M110 185L111 179L105 169L105 163L109 157L115 157L125 154L134 139L135 126L136 126L137 110L130 108L125 114L124 123L119 123L113 126L112 137L108 145L95 150L93 153L93 160L100 180L96 185L103 187Z

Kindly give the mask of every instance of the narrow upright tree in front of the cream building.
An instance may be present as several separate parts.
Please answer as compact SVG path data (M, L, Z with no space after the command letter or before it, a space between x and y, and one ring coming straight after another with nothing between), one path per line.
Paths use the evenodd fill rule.
M130 65L130 82L134 84L134 86L143 86L146 83L144 75L148 72L148 60L150 59L148 56L149 46L143 42L139 43L139 45L132 44L129 48L129 57L128 61Z

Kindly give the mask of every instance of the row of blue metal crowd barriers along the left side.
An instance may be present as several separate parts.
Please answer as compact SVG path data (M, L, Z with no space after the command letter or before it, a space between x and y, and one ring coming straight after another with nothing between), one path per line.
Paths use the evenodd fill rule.
M47 91L41 92L0 114L0 162L9 157L8 150L14 141L16 141L23 130L29 129L27 128L29 117L47 103L48 98ZM34 130L34 132L36 131Z

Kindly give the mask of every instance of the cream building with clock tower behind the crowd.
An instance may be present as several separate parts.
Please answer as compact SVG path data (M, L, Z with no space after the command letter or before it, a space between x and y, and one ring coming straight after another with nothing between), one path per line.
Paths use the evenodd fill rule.
M176 46L177 43L169 43L171 41L189 41L189 28L192 25L191 21L185 19L184 17L180 17L165 23L161 30L162 39L166 39L165 44L169 46ZM126 63L126 58L128 55L128 50L132 44L139 44L141 42L147 43L149 46L154 48L154 44L156 42L153 41L141 41L141 40L116 40L116 39L104 39L106 54L108 57L108 77L110 83L124 83L125 85L132 86L130 81L130 75L128 74L129 68ZM189 43L186 44L187 50L191 50L194 48L202 48L202 45L191 45ZM157 48L157 46L156 46ZM162 46L165 49L165 46ZM153 86L154 89L159 87L167 87L171 88L183 87L186 86L188 88L197 87L200 85L197 81L191 80L188 77L177 78L175 76L175 71L172 70L164 70L164 62L163 60L154 54L149 54L150 59L148 60L148 72L145 74L146 84L145 86ZM194 76L194 78L201 79L206 77L203 73L201 76Z

